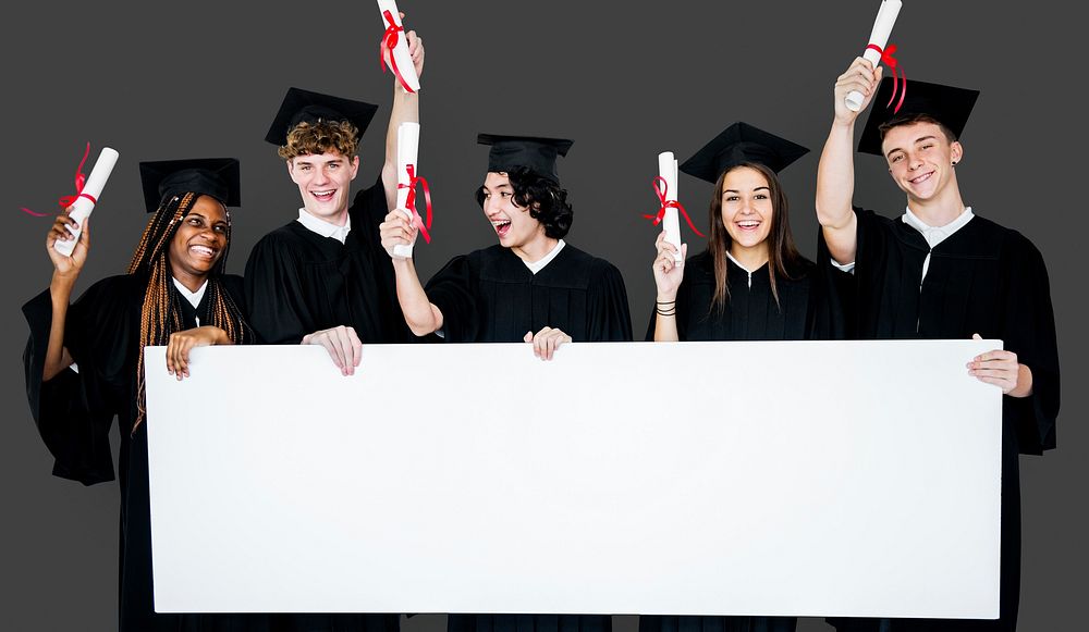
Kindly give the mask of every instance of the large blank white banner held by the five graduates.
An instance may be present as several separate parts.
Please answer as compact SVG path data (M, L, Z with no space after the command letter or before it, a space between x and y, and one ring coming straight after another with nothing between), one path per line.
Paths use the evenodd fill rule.
M995 618L1000 346L150 347L156 609Z

